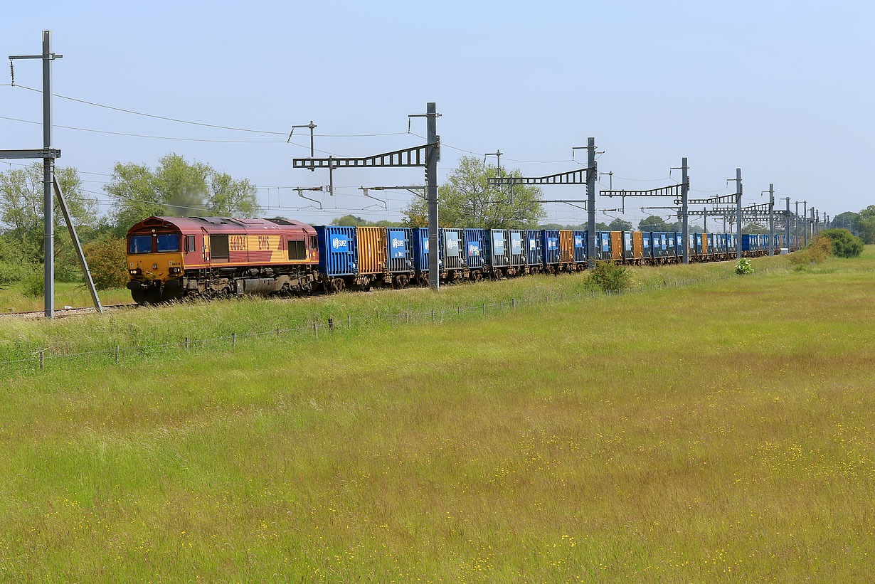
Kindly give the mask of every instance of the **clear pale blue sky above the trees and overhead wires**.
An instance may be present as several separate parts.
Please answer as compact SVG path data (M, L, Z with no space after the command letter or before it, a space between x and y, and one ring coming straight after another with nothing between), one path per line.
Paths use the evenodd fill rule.
M434 101L443 115L442 178L462 154L447 146L500 149L502 165L539 175L575 165L509 158L567 160L571 146L593 136L605 151L599 170L616 173L614 186L664 184L669 166L687 156L694 189L731 192L725 179L741 167L746 202L763 201L760 191L774 182L777 196L836 215L875 203L868 176L875 159L873 17L865 2L14 3L3 11L0 55L39 53L40 31L52 30L54 50L64 55L55 61L57 94L242 128L287 132L313 120L321 134L402 132L317 137L317 148L348 156L423 143L406 135L407 115ZM18 83L38 88L40 80L38 61L17 61ZM8 82L0 72L0 83ZM40 120L40 112L38 94L0 87L0 116ZM154 165L176 151L260 186L328 180L326 172L292 170L291 158L306 150L282 136L60 99L55 123L281 142L55 130L60 164L80 171L109 173L116 161ZM424 134L423 118L412 129ZM41 145L40 128L26 123L0 119L0 137L0 148ZM95 191L108 179L82 176L95 181L87 183ZM324 213L294 210L301 203L289 190L260 189L259 198L270 215L309 222L346 209L395 219L409 194L386 193L389 212L355 211L373 202L355 187L422 181L419 169L338 171L341 188L324 197ZM582 187L545 191L546 198L576 195ZM645 204L629 201L627 219L637 223ZM619 201L600 198L598 205ZM583 211L563 205L548 213L549 221L584 220Z

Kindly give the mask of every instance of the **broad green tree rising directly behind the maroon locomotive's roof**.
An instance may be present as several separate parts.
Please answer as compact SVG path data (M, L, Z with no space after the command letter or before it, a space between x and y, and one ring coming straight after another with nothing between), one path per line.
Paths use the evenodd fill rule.
M259 212L255 186L248 179L233 179L212 166L186 162L167 154L152 170L147 165L116 163L112 179L103 187L116 203L112 213L116 235L151 215L235 215Z

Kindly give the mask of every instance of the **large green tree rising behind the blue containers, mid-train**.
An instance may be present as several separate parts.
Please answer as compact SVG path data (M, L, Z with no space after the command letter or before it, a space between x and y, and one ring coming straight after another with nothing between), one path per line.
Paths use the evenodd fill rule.
M521 176L519 170L502 170L502 176ZM491 186L490 178L498 169L477 157L463 156L458 165L438 189L441 224L483 229L529 229L545 214L540 201L541 189L536 186L514 186L511 204L509 186ZM405 225L413 226L428 216L427 203L416 197L404 208Z

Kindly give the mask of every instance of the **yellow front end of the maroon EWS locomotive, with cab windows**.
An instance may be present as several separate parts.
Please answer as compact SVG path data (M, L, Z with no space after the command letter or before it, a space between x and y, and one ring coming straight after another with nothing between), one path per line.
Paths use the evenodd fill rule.
M183 291L179 231L149 229L128 234L128 289L138 304L174 299Z

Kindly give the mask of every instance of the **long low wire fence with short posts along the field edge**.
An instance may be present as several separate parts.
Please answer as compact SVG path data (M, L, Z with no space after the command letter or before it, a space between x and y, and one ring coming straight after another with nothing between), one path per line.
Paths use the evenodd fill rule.
M771 270L769 270L771 271ZM762 272L762 271L760 271ZM195 338L185 336L176 342L165 342L152 345L137 345L123 347L116 344L114 347L100 348L91 351L83 351L79 353L50 353L49 349L37 349L33 351L31 357L21 359L12 359L9 361L0 361L0 369L11 371L44 371L49 368L50 363L65 363L65 362L88 362L93 364L114 364L120 365L123 362L130 361L132 357L157 355L165 351L191 351L198 348L235 348L240 341L246 341L255 338L264 338L274 336L276 338L313 338L318 339L326 334L335 334L339 330L353 330L354 327L362 323L374 324L384 323L389 325L409 325L443 323L446 320L459 320L466 317L480 316L486 317L490 314L503 314L508 311L514 311L520 308L532 308L535 306L546 306L550 304L567 303L571 301L596 299L598 297L624 296L634 293L644 293L653 290L669 287L681 287L686 285L704 284L706 282L714 282L720 279L730 278L732 274L722 274L711 278L689 278L681 279L673 282L662 282L651 285L641 285L634 288L619 291L588 291L588 292L571 292L543 295L529 295L523 298L511 298L500 300L499 302L487 303L483 302L472 306L455 306L444 307L439 309L430 309L424 311L402 311L402 312L381 312L374 311L373 314L362 316L352 316L346 314L345 317L339 319L327 318L326 320L314 320L312 323L301 327L274 327L269 330L256 332L232 333L229 335L214 336L207 338Z

